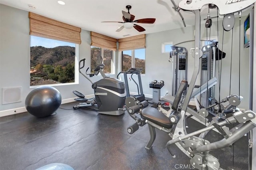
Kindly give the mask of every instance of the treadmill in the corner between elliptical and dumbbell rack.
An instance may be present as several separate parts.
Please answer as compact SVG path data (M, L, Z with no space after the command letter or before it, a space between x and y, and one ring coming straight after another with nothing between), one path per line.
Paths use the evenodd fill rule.
M127 75L130 74L131 75L131 79L132 81L136 84L137 86L137 90L138 90L138 95L133 95L134 97L136 97L139 101L144 101L145 100L145 95L143 93L142 90L142 83L141 83L141 77L140 77L140 73L142 72L143 68L130 68L127 71L121 71L120 73L118 73L117 78L119 77L120 74L124 74L124 83L125 83L125 89L126 89L126 97L130 97L130 91L129 91L129 85L128 85L128 77ZM138 83L136 83L136 81L134 80L134 78L132 77L132 75L137 75L138 76Z

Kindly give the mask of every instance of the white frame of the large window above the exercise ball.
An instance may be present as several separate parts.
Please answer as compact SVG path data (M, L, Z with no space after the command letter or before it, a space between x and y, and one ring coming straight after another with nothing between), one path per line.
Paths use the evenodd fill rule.
M31 36L34 36L34 35L30 35L30 46L29 48L31 48ZM39 36L36 36L36 37L39 37ZM40 38L45 38L45 37L40 37ZM46 38L46 39L49 39L49 40L54 40L52 38ZM57 40L57 41L61 41L61 40ZM65 41L61 41L61 42L65 42ZM74 85L74 84L79 84L79 70L78 70L78 59L79 59L79 44L78 43L74 43L75 44L75 58L74 58L74 82L72 83L58 83L58 84L46 84L47 86L62 86L62 85ZM30 52L31 52L31 49L30 49ZM30 54L30 53L29 53ZM31 56L29 55L29 63L31 61ZM30 69L31 69L31 65L29 64L30 66ZM30 73L29 73L29 77L30 77ZM34 86L31 86L29 85L31 89L33 88L36 88L36 87L40 87L40 86L45 86L45 85L34 85Z

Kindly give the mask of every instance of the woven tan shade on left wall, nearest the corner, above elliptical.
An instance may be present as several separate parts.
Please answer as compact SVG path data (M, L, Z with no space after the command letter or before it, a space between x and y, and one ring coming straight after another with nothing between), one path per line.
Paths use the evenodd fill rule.
M117 51L116 39L108 36L104 36L102 34L98 34L96 32L91 32L90 34L92 39L91 46Z

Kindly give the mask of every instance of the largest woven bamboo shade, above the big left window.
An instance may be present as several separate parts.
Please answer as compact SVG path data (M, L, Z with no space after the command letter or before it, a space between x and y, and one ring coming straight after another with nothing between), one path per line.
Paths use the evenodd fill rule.
M30 19L30 35L50 38L71 43L81 43L81 28L59 22L32 12L28 13Z

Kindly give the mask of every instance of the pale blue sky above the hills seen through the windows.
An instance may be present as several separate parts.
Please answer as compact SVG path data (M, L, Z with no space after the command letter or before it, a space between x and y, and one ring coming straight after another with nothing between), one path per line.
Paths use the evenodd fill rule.
M31 36L31 47L42 46L46 48L54 48L58 46L70 46L75 47L75 43L62 42L58 40L52 40L48 38L41 38L37 36ZM132 50L123 51L124 54L132 56ZM145 59L145 49L135 49L135 58Z

